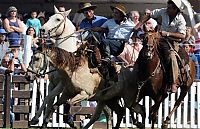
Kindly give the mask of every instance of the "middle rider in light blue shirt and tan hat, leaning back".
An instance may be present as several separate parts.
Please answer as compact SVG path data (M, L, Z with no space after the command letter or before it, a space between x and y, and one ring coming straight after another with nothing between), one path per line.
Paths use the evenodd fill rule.
M126 8L123 5L111 6L112 19L107 20L101 27L92 28L96 32L105 32L107 36L94 33L98 39L98 47L101 51L101 66L103 66L105 76L108 76L111 55L118 56L124 49L124 44L128 41L134 24L126 17ZM112 75L111 75L112 76Z

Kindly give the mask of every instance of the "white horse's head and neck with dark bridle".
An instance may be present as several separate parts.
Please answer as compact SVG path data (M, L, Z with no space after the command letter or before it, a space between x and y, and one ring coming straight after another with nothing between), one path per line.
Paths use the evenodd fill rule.
M71 9L65 12L59 12L54 6L55 14L41 27L41 33L48 38L55 39L55 46L65 49L68 52L77 50L77 35L75 33L75 26L67 18Z

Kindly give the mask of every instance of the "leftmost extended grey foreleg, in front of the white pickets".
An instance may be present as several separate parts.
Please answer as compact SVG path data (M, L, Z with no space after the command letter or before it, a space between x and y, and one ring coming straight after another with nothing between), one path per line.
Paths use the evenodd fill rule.
M53 84L51 84L53 85ZM39 117L42 114L42 111L44 110L46 104L48 105L48 109L51 109L53 106L52 101L54 101L55 96L59 95L63 90L62 85L59 83L44 99L41 107L36 112L35 116L31 119L30 125L35 125L39 122ZM46 116L46 115L45 115Z

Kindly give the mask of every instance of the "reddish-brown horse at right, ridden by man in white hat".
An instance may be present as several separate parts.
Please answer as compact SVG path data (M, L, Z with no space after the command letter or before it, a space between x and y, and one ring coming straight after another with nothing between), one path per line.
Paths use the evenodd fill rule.
M163 100L168 96L167 78L165 76L164 67L162 61L160 60L160 53L158 51L159 43L166 42L167 40L161 40L161 38L163 37L161 37L158 32L146 32L144 34L143 48L135 65L135 68L138 71L137 75L139 89L136 102L139 102L145 96L151 97L155 102L155 104L151 107L149 115L152 121L152 129L154 128L160 103L163 102ZM180 47L179 51L180 50L182 50L182 55L188 56L183 48ZM195 65L194 63L190 62L189 66L190 70L187 72L185 68L184 72L182 72L182 74L179 76L178 85L181 88L181 93L179 98L176 100L173 109L163 122L162 128L168 127L168 122L172 114L179 107L181 101L186 96L194 81ZM189 75L187 73L189 73Z

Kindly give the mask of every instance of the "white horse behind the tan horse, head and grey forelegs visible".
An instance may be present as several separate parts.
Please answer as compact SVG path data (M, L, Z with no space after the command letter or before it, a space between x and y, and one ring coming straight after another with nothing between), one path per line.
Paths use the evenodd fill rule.
M67 10L65 12L59 12L59 10L54 6L54 12L55 14L50 17L50 19L42 26L42 31L44 35L48 35L50 38L53 38L55 40L55 46L59 48L63 48L66 51L69 52L75 52L77 50L77 41L78 34L75 31L75 26L72 24L72 22L67 18L70 10ZM45 60L42 60L42 63L47 63ZM31 64L31 63L30 63ZM35 66L36 69L34 71L38 74L41 69L39 66ZM50 68L50 71L52 69ZM43 118L43 125L45 126L46 123L48 123L48 114L50 114L51 109L48 107L51 107L53 105L55 96L59 95L65 83L62 81L62 77L60 74L58 74L57 71L51 72L49 75L49 88L48 88L48 95L45 97L43 104L39 108L39 110L36 112L35 116L33 117L30 124L37 124L39 122L39 117L44 110L44 108L47 105L47 109L45 111L45 116ZM73 124L69 123L71 127L73 127Z

